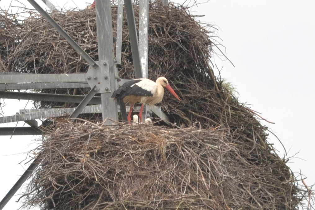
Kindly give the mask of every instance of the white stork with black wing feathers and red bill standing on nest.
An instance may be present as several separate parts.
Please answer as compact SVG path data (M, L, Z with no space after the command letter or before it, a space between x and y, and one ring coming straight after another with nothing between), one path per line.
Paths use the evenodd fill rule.
M156 82L146 78L133 79L123 83L121 87L114 91L112 98L123 99L123 102L129 103L130 111L127 117L128 122L131 121L132 108L136 103L141 104L139 118L142 122L142 110L143 104L146 103L150 106L162 101L165 87L176 99L180 101L180 98L175 93L173 88L169 85L169 82L165 77L157 78Z

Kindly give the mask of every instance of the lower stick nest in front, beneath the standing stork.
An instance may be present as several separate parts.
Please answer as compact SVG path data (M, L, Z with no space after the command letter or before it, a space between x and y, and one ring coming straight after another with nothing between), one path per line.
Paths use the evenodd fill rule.
M296 209L285 162L229 129L55 120L26 204L41 209ZM255 161L253 161L255 160Z

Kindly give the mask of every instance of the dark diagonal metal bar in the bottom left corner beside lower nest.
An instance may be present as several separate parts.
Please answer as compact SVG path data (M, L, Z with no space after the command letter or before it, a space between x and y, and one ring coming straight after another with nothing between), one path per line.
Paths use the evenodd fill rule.
M4 196L4 198L0 202L0 210L4 208L4 206L9 202L9 200L14 196L16 191L20 189L22 184L29 178L31 173L35 170L35 168L39 165L41 160L35 158L35 160L31 163L31 165L26 169L26 171L22 174L20 179L13 185L11 190Z

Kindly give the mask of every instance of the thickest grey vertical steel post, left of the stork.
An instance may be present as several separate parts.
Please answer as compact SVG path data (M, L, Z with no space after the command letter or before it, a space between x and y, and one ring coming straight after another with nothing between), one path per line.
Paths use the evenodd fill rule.
M102 116L103 121L106 118L118 120L117 101L112 100L112 93L118 88L116 77L118 77L117 69L114 64L114 44L113 44L113 29L112 29L112 9L111 1L96 0L96 29L98 54L100 62L107 62L109 72L106 72L105 66L100 65L100 71L107 73L110 80L110 93L102 93ZM106 124L112 124L111 121L106 121Z

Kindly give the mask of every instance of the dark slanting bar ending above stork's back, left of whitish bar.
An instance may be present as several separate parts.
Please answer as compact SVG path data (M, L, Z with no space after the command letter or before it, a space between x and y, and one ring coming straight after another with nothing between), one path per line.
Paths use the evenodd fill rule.
M132 5L132 0L124 0L124 2L125 2L125 9L126 9L126 15L127 15L127 22L128 22L132 60L135 66L135 77L143 78L140 54L139 54L137 29L136 29L136 23L135 23L135 14L134 14L134 9Z

